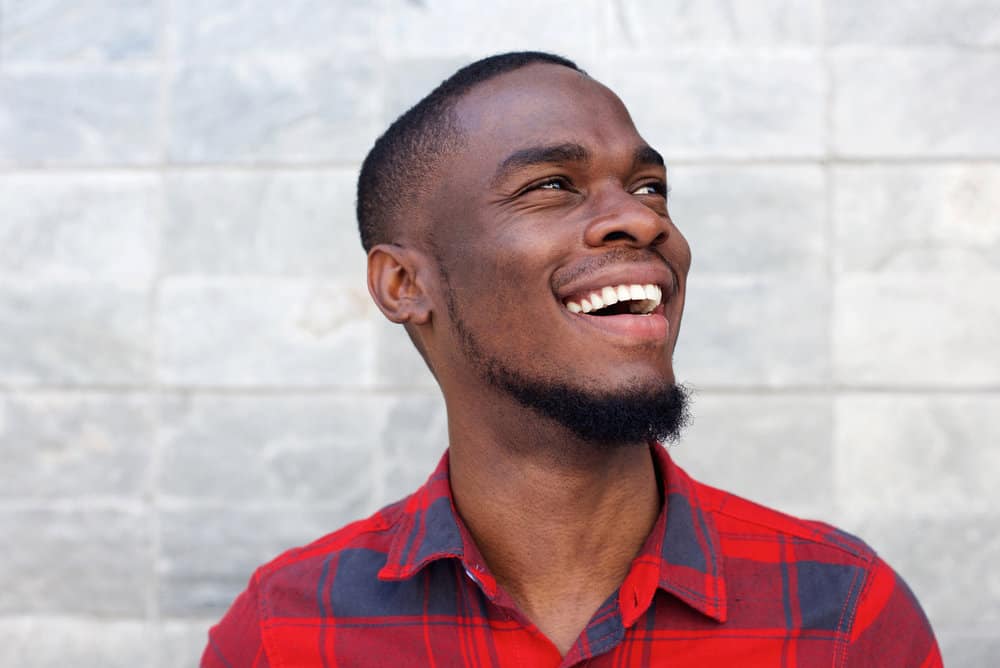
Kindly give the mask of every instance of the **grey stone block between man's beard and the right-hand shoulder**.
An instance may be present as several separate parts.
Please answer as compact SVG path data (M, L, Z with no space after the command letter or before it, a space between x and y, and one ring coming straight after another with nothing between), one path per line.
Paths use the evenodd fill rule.
M784 512L833 513L833 410L828 397L698 393L672 446L696 479Z

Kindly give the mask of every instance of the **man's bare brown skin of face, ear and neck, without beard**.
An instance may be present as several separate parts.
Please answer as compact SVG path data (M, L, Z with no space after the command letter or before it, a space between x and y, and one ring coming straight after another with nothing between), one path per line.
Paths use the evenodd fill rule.
M690 250L667 212L664 167L601 84L531 65L477 86L456 112L465 145L396 243L371 250L369 289L444 393L455 504L486 565L565 655L658 516L652 457L645 443L583 442L487 382L449 299L479 347L525 377L654 390L674 382ZM573 150L503 168L552 146ZM665 286L662 335L647 323L608 330L563 305L638 274Z

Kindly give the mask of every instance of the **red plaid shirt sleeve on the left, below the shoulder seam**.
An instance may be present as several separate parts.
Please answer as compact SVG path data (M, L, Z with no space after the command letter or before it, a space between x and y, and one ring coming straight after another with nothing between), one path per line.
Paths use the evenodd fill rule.
M258 579L254 573L246 591L208 632L201 668L270 668L258 617Z

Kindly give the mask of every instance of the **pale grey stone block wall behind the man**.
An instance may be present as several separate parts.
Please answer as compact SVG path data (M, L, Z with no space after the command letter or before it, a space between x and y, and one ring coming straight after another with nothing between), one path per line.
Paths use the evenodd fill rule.
M1000 653L996 0L0 0L0 665L195 665L252 569L419 484L356 171L458 65L619 92L695 255L707 482L860 533Z

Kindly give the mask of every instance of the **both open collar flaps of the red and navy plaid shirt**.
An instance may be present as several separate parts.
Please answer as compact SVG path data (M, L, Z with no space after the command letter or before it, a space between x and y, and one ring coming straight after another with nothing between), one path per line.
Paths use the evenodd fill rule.
M674 464L660 444L651 446L664 486L664 504L653 530L619 590L625 626L631 626L662 589L719 622L726 620L726 582L718 530L697 484ZM438 559L462 562L491 598L496 580L455 510L448 479L448 453L423 487L403 502L383 580L405 580Z

